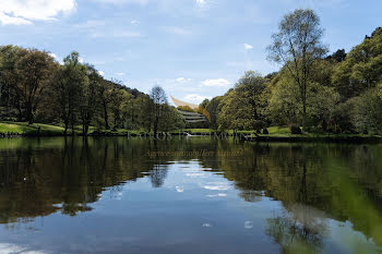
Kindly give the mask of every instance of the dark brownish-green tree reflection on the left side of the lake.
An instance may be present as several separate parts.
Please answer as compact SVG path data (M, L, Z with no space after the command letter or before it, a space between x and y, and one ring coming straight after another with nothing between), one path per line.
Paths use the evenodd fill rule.
M27 142L0 149L0 223L91 210L105 189L142 178L153 167L144 159L145 141L134 147L124 138Z

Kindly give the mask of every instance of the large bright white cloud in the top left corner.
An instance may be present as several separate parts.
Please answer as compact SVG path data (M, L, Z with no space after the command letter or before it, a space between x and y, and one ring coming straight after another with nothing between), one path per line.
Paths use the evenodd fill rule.
M75 0L0 0L2 25L27 25L33 21L51 21L75 9Z

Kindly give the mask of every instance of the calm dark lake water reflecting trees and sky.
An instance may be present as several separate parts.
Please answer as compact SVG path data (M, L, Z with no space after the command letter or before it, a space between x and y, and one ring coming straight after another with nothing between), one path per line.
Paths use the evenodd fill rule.
M0 253L381 246L382 145L0 140Z

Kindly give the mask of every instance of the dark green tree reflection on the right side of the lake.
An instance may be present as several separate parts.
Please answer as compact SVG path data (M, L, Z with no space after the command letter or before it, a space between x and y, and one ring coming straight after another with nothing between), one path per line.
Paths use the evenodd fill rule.
M315 242L324 235L307 226L310 220L303 220L301 215L309 216L311 211L294 209L296 204L315 207L339 221L349 220L355 230L382 245L381 148L336 144L235 145L231 150L243 149L244 156L236 160L219 157L215 170L219 169L225 178L235 182L246 201L259 202L262 196L280 201L288 219L276 216L270 219L271 225L299 231L298 245L306 245L307 250L315 250ZM208 166L208 161L203 165ZM297 220L296 213L300 213ZM290 222L294 221L290 218L298 223ZM271 235L277 237L275 229L279 227L271 229ZM282 245L288 242L286 239L288 235L275 238Z

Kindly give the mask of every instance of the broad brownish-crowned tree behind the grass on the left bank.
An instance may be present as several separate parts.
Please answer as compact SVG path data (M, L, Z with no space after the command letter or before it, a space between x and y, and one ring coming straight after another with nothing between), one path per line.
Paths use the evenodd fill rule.
M53 58L46 51L28 50L16 63L19 92L26 109L26 120L34 122L34 113L41 100L46 87L51 82L51 73L55 68Z

